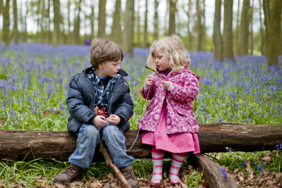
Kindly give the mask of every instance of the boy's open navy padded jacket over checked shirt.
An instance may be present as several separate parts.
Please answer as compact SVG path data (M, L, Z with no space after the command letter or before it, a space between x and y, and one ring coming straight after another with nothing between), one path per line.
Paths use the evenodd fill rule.
M76 132L82 123L92 124L91 120L96 116L94 113L95 94L94 87L86 74L91 68L85 68L82 73L78 73L71 78L68 85L68 95L66 98L66 105L70 112L68 118L68 132ZM123 118L124 123L118 125L122 132L130 129L128 120L133 115L133 101L130 96L128 82L124 80L127 76L124 70L120 69L118 78L114 85L114 89L109 94L108 113L119 115Z

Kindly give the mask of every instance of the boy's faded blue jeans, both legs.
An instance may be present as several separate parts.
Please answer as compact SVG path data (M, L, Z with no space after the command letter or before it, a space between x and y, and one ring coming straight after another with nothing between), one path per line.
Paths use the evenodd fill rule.
M133 156L128 156L125 151L118 150L126 150L126 148L123 132L116 125L107 123L106 127L103 127L100 131L102 131L102 139L108 147L111 158L118 168L124 168L133 163ZM68 158L68 161L81 168L88 168L92 163L95 148L99 143L99 131L95 125L82 124L76 134L78 135L76 149L70 158Z

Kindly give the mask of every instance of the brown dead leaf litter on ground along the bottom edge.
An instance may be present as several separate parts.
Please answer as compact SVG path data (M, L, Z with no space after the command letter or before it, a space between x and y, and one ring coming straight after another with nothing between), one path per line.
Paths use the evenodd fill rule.
M264 161L266 163L268 160L271 158L271 153L269 155L264 156ZM238 187L271 187L271 188L276 188L276 187L282 187L282 173L281 172L270 172L269 169L262 170L259 175L254 175L254 172L250 166L250 160L245 163L245 170L247 171L246 173L243 172L238 172L238 169L235 170L229 170L228 167L223 166L226 171L231 174L237 184ZM192 166L188 165L185 167L180 168L180 178L183 182L188 182L188 176L191 175L192 172ZM167 172L164 172L164 177L166 177ZM137 180L140 183L140 188L146 188L150 187L149 184L149 179L145 178L138 178ZM95 177L92 177L92 179L82 179L78 180L75 182L71 182L68 184L50 184L50 182L47 180L46 177L39 175L37 178L37 185L36 187L40 188L66 188L66 187L89 187L89 188L96 188L96 187L123 187L123 184L116 178L112 173L109 173L106 175L104 180L97 180ZM176 188L187 188L187 187L195 187L192 184L185 184L181 182L180 184L176 185L171 185L168 182L168 178L164 178L162 181L161 187L176 187ZM208 182L205 180L202 180L202 182L197 182L197 184L200 184L201 188L207 188L208 187ZM16 182L16 184L6 184L4 179L0 180L0 187L29 187L28 184L23 182L23 180L19 180ZM198 186L197 186L198 187Z

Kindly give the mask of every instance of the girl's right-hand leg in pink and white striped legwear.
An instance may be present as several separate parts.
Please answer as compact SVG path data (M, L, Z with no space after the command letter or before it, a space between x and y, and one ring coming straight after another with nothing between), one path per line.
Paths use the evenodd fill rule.
M169 182L171 184L176 184L181 180L178 177L178 171L184 161L185 156L187 153L173 153L171 159L171 169L169 170Z

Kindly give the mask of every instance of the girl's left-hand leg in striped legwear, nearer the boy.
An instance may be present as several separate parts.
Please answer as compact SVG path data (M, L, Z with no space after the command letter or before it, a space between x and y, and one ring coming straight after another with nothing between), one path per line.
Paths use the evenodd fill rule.
M163 179L163 161L164 161L164 150L156 149L156 146L152 146L152 161L153 161L153 177L151 180L152 186L161 184Z

